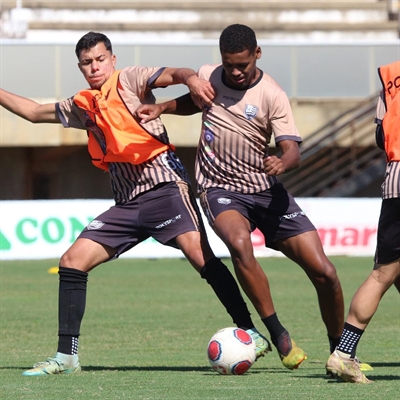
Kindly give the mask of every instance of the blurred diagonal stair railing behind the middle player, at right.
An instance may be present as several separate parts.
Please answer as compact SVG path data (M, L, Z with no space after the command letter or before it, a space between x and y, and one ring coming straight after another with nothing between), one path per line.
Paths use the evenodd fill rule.
M280 180L301 197L355 195L384 171L385 154L375 144L378 94L339 115L305 139L302 165Z

